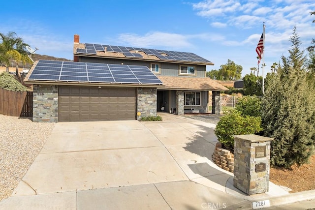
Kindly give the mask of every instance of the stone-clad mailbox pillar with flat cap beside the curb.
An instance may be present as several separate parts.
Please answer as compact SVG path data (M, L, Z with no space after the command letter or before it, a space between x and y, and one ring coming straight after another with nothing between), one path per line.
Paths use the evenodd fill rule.
M234 136L234 187L248 195L268 192L272 140L258 135Z

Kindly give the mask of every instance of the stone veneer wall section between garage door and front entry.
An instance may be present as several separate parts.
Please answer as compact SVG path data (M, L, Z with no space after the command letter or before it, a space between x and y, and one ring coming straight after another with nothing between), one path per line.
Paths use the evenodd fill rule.
M157 116L157 89L137 89L137 112L141 117Z

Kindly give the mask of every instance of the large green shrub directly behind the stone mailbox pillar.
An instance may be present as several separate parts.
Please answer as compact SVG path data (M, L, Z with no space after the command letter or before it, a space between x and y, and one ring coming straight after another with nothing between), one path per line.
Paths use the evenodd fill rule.
M238 110L229 110L218 122L215 134L225 149L233 150L233 135L258 133L262 130L260 124L260 117L242 116Z

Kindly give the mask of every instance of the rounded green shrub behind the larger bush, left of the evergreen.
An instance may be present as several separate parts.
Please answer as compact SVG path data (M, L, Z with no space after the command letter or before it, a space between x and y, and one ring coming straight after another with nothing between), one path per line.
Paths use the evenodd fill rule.
M235 106L235 109L242 113L242 116L261 116L261 98L256 96L243 96Z

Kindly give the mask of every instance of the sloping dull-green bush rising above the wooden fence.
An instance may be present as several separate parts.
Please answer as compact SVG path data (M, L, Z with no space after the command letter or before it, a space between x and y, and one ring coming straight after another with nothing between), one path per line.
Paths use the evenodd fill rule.
M13 75L7 72L0 74L0 88L11 91L27 91L28 88L17 81Z

